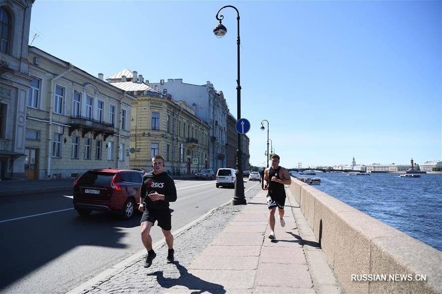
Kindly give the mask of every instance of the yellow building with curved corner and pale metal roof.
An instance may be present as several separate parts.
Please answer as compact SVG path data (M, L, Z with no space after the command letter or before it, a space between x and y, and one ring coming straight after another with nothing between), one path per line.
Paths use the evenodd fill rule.
M160 154L171 174L208 168L210 128L193 107L154 90L137 71L124 69L106 80L137 97L130 118L131 167L150 169L152 157Z

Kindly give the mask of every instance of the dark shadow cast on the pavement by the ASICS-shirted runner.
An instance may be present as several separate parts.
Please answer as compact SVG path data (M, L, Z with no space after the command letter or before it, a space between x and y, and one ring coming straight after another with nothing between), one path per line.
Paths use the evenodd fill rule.
M224 287L219 284L210 283L205 280L200 279L197 276L194 276L193 274L189 273L187 271L187 268L181 266L177 261L174 263L177 266L177 269L179 271L179 277L178 278L166 278L164 277L164 274L161 270L148 273L148 276L156 276L156 280L158 284L162 288L169 289L173 286L184 286L187 287L189 290L197 290L195 292L192 292L192 294L198 294L198 293L213 293L213 294L224 294L226 293L226 290L224 290Z

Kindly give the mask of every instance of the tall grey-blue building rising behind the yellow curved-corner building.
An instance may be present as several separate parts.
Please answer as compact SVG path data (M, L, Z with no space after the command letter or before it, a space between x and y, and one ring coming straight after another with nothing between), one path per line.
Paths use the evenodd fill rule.
M163 95L172 95L193 107L195 115L210 127L209 168L216 171L227 167L227 116L229 109L222 91L216 91L207 81L204 85L183 83L182 79L150 83Z

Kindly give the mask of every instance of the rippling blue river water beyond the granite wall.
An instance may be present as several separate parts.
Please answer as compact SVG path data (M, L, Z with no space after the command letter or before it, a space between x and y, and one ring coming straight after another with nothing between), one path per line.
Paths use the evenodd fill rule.
M398 173L349 176L316 173L313 187L442 251L442 175L401 178Z

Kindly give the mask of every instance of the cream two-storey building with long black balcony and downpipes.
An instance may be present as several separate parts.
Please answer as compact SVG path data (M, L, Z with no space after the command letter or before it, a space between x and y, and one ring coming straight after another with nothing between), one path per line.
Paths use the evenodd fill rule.
M76 178L92 168L128 168L135 97L69 62L29 47L27 179Z

